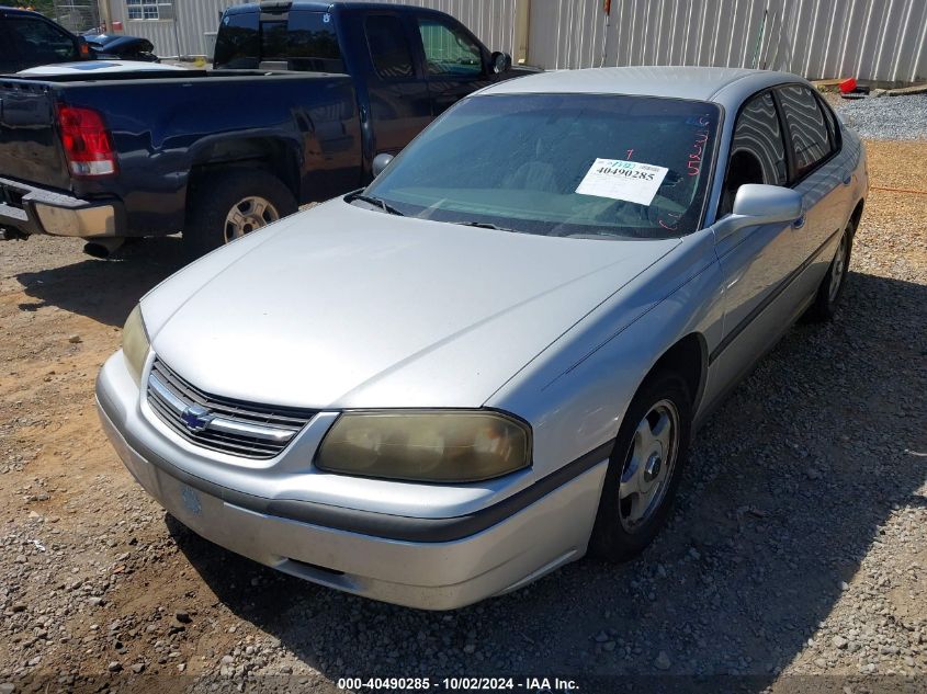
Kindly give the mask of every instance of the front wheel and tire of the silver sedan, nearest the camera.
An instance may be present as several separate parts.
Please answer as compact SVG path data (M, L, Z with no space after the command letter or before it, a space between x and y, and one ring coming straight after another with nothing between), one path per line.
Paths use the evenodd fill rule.
M612 451L590 551L628 561L666 523L692 428L692 399L674 372L649 376L631 401Z

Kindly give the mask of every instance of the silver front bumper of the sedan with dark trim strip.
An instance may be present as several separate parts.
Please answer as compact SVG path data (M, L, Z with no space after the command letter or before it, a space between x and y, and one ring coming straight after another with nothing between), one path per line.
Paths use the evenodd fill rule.
M180 448L170 460L151 451L145 436L138 435L139 428L150 424L137 405L138 387L125 369L122 353L104 366L97 392L103 428L125 466L196 534L315 583L425 610L452 610L515 590L581 557L607 467L607 456L595 460L532 503L473 534L441 542L396 539L344 530L351 523L331 527L259 510L292 509L295 502L274 507L273 500L258 500L191 475L184 470ZM348 516L371 515L338 511ZM407 524L436 521L400 520ZM395 526L396 519L391 521Z

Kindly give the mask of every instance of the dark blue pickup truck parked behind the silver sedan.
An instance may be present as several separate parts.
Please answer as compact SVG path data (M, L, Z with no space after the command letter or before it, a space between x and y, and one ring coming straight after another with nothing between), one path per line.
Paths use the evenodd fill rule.
M0 76L0 229L191 257L368 182L464 95L523 73L418 7L271 0L222 15L213 70Z

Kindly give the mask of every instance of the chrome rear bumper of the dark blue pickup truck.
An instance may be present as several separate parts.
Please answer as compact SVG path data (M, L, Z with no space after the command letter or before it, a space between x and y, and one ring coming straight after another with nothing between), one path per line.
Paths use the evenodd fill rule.
M0 227L83 239L123 236L121 207L0 178Z

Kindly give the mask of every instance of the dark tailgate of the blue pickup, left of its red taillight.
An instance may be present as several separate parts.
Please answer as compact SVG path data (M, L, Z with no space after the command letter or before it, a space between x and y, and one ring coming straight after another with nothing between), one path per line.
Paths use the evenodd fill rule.
M70 187L47 83L0 78L0 177Z

